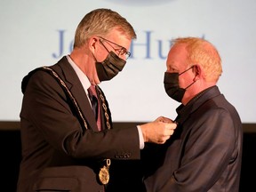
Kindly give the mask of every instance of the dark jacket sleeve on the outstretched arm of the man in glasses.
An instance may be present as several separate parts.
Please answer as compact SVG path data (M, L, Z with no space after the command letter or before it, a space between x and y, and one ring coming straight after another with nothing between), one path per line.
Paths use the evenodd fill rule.
M42 145L75 158L140 158L136 127L83 132L70 100L51 75L38 71L26 84L20 118L40 132Z

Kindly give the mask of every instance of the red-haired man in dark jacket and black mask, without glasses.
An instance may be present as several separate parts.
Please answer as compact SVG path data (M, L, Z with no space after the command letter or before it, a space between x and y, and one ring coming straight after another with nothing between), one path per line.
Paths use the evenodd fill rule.
M201 38L178 38L166 67L165 92L181 102L178 126L164 145L142 151L147 192L238 192L243 130L236 108L216 85L218 51Z

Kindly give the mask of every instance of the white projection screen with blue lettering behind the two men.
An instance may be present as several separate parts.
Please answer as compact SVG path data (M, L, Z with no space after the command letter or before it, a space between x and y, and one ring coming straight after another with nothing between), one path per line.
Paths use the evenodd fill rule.
M175 118L180 104L164 92L166 56L173 38L199 36L222 57L220 91L243 123L256 123L255 0L1 1L0 121L20 120L22 77L71 52L77 24L101 7L123 15L138 36L124 70L100 84L114 122Z

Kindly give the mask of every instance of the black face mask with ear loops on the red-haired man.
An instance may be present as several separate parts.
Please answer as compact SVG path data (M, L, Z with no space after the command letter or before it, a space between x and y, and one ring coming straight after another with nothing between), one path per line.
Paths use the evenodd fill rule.
M194 68L194 66L192 66L191 68ZM165 89L165 92L169 95L169 97L171 97L173 100L177 100L178 102L181 102L188 87L191 86L192 84L195 84L195 82L193 82L192 84L189 84L185 89L180 88L180 85L179 85L179 76L187 72L191 68L188 68L187 70L183 71L180 74L169 73L169 72L164 73L164 89Z

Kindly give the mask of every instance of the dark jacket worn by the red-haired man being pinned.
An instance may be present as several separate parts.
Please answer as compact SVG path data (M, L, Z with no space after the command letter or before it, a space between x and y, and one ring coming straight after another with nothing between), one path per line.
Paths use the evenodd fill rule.
M238 192L243 129L236 108L213 86L177 112L171 139L143 150L147 191Z

